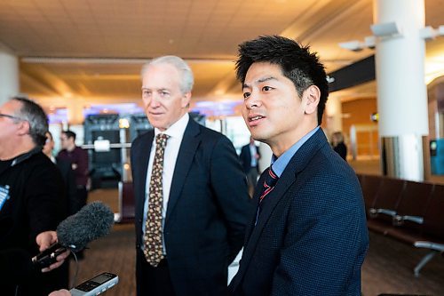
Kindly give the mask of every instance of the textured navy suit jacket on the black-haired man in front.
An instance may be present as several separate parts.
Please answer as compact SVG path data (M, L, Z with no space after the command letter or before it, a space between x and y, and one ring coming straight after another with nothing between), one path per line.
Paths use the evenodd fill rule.
M265 180L261 176L254 201ZM369 245L361 187L321 129L297 150L246 230L234 295L361 295Z

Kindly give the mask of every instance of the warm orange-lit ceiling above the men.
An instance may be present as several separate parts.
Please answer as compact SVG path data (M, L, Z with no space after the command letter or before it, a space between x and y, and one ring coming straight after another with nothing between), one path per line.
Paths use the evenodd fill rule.
M425 0L426 25L444 0ZM337 44L370 36L371 0L2 0L0 44L20 57L20 91L45 107L140 101L139 69L175 54L194 70L194 102L240 100L237 45L260 35L310 44L328 72L373 54ZM427 43L444 68L444 37ZM430 70L432 71L432 70ZM374 84L344 100L374 96Z

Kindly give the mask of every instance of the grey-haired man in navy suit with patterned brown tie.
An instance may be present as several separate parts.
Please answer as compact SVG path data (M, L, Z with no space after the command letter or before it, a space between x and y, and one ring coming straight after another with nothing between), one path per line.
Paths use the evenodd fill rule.
M228 265L242 248L250 207L245 176L232 142L188 116L193 82L175 56L142 68L142 100L155 129L131 146L139 296L226 295ZM156 140L165 137L163 150ZM152 216L159 207L162 223ZM153 243L156 231L163 246Z

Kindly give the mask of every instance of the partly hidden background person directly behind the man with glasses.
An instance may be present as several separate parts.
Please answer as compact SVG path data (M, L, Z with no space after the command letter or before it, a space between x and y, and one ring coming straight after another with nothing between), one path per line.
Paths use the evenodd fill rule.
M50 157L53 164L57 164L59 171L65 180L65 188L67 189L67 214L73 215L77 212L77 191L75 186L75 173L71 167L71 163L63 160L57 159L52 155L52 150L54 149L54 140L52 139L52 133L45 133L46 140L44 142L44 148L42 151L45 156Z

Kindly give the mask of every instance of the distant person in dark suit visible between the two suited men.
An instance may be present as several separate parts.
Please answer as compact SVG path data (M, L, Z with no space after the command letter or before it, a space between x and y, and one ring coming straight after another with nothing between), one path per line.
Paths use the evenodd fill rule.
M247 175L249 194L253 196L254 188L258 183L260 159L259 147L255 144L253 137L250 136L250 143L242 147L239 157L241 159L243 172Z

